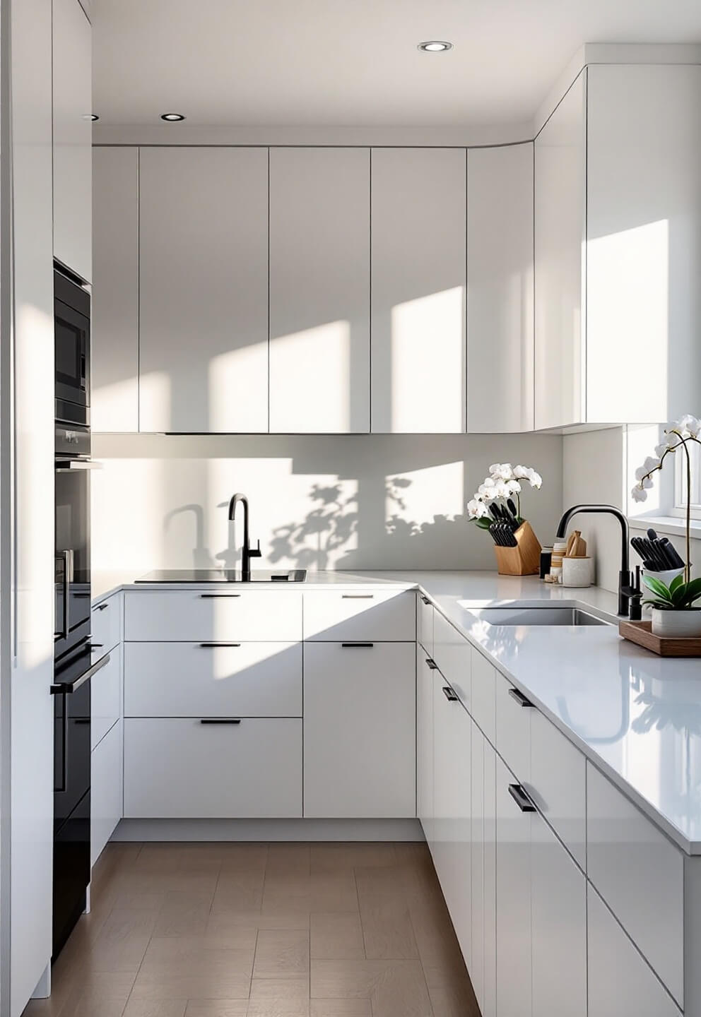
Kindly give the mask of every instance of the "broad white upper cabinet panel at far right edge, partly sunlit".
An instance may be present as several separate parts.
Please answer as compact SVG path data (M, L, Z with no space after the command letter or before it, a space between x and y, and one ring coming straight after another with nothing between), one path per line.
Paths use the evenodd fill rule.
M699 109L699 66L588 70L587 422L701 401Z

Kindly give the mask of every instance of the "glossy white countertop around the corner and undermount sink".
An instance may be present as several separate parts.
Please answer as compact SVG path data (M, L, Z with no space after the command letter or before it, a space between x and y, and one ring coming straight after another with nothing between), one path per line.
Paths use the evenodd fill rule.
M94 601L131 586L143 572L98 575ZM621 639L616 595L596 587L412 570L310 573L297 589L363 584L425 593L653 823L688 854L701 854L701 661L657 657ZM500 626L474 613L514 603L582 607L615 623Z

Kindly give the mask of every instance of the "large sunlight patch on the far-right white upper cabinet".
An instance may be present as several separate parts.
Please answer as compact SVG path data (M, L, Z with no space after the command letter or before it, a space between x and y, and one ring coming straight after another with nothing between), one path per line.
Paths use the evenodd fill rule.
M663 219L587 245L587 372L596 378L587 397L589 420L605 422L611 406L619 407L619 420L635 420L635 410L626 410L629 394L635 407L638 388L649 391L651 372L655 397L646 417L667 418L668 234Z

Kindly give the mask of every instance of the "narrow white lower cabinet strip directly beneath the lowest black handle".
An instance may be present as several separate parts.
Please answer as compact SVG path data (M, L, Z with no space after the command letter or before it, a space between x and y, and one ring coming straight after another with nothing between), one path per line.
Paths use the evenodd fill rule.
M496 759L496 1013L531 1014L531 822L509 788L517 781ZM539 1014L535 1017L540 1017Z

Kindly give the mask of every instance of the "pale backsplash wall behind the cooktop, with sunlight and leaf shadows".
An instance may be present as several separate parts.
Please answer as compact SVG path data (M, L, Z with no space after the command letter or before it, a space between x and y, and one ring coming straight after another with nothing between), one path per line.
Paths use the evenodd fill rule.
M493 569L465 503L494 461L542 475L522 508L543 544L563 501L557 435L103 434L93 453L96 570L238 563L235 491L250 499L259 567Z

